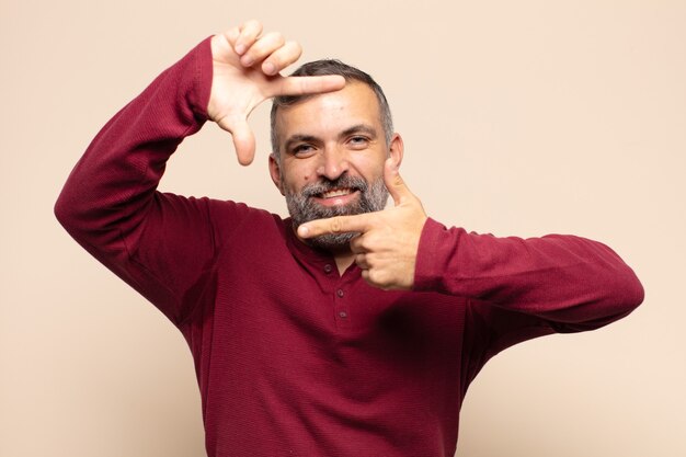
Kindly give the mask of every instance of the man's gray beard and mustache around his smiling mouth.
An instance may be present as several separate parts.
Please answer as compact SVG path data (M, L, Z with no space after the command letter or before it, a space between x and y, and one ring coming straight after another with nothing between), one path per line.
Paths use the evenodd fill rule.
M348 187L359 191L359 198L350 205L321 206L312 197L334 188ZM307 184L299 194L286 192L286 205L293 219L293 227L297 228L305 222L316 219L324 219L334 216L351 216L364 213L380 212L386 207L388 201L388 190L384 184L384 179L368 184L362 178L341 175L336 180L323 179L316 184ZM357 232L327 233L316 238L310 238L308 243L315 248L328 251L346 250L351 240Z

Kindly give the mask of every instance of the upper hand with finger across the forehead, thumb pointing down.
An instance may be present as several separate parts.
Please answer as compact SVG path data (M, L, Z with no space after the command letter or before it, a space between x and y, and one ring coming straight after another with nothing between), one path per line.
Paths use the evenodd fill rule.
M211 38L213 81L207 114L233 137L238 161L248 165L255 139L248 115L276 95L300 95L342 89L340 76L282 77L278 72L302 53L296 42L276 32L262 35L262 24L248 21Z

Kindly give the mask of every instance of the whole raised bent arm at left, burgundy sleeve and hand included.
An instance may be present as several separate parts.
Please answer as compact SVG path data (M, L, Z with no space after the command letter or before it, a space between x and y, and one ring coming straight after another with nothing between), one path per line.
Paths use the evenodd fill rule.
M157 192L167 161L183 138L216 119L249 163L254 142L245 117L259 103L343 85L340 77L281 77L299 55L279 34L262 36L256 22L204 41L103 127L65 184L59 221L173 320L215 253L210 215L218 205ZM232 204L221 210L233 221L245 212Z

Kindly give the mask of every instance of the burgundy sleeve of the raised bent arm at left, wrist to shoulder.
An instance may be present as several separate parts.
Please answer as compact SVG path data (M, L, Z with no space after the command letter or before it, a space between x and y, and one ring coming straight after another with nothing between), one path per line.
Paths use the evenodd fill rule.
M55 205L83 248L175 323L191 311L215 255L218 202L162 194L157 185L183 138L206 121L210 87L207 38L103 127Z

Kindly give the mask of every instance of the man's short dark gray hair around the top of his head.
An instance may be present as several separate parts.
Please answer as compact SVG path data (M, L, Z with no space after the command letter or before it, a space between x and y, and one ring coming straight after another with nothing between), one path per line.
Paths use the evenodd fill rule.
M345 78L346 82L362 82L367 84L367 87L374 91L374 94L379 102L379 114L381 117L381 126L384 127L384 137L386 138L386 144L389 145L393 135L393 119L390 114L390 106L388 105L388 100L386 100L384 90L368 73L347 64L343 64L341 60L322 59L304 64L290 76L299 77L327 75L340 75ZM276 112L278 107L290 106L300 101L310 99L311 96L313 95L281 95L274 98L270 119L272 128L272 151L276 157L278 157L278 134L276 133Z

